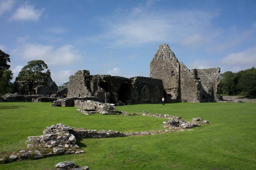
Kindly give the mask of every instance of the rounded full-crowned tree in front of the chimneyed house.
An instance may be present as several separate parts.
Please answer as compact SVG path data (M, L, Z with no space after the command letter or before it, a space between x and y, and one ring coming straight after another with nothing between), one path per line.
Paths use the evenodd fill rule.
M22 68L16 81L18 80L26 83L29 94L31 94L35 85L44 85L46 83L48 75L42 71L47 68L48 66L43 60L32 60Z

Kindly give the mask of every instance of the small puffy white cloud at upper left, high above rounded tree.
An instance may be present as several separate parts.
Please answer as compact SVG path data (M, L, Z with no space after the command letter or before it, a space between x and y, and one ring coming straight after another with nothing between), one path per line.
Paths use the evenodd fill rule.
M12 20L38 21L43 13L44 13L44 8L35 9L35 7L33 5L25 4L24 6L21 6L14 12L12 17L10 18L10 21L12 21Z

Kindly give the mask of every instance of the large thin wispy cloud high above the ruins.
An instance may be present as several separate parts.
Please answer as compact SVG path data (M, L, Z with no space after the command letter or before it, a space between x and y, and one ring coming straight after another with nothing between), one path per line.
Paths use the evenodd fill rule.
M213 12L201 10L153 11L145 5L116 12L107 17L98 18L106 25L106 31L93 37L82 37L81 41L108 41L110 47L137 46L145 43L178 43L183 46L204 45L218 36L219 30L212 27ZM148 5L147 5L148 4Z

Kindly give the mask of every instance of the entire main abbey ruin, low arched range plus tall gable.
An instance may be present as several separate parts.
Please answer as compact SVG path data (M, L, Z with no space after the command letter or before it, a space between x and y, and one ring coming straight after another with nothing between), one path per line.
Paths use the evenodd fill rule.
M189 70L168 44L158 47L150 63L150 78L90 75L79 70L69 77L67 97L95 97L116 105L167 102L215 102L220 68Z

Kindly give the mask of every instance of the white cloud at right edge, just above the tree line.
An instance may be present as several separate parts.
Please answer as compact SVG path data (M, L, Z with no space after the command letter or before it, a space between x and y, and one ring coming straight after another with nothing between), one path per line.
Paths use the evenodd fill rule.
M238 53L231 53L222 58L220 64L233 67L252 67L256 66L256 47L249 48Z

